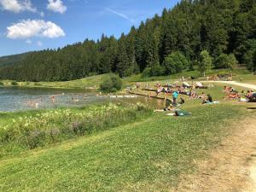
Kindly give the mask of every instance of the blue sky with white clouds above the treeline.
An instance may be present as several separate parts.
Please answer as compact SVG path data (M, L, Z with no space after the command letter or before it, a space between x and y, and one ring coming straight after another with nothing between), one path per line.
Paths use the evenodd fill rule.
M119 38L178 0L0 0L0 56Z

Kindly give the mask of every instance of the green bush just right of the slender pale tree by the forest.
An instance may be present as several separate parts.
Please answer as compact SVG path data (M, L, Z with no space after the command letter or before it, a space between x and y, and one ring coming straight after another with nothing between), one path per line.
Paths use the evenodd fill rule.
M230 68L233 69L237 64L236 56L234 54L222 54L215 60L215 68Z

